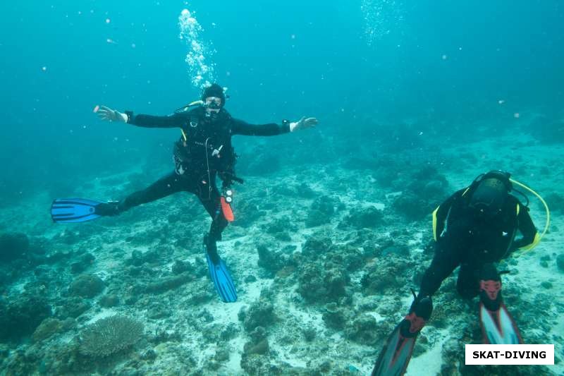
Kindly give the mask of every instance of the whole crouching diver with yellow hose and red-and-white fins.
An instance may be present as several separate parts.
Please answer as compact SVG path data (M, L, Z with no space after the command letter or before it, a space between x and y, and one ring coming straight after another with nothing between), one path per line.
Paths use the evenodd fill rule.
M498 272L494 263L517 249L528 250L537 245L548 229L549 212L546 202L530 190L544 203L548 214L545 230L539 236L529 208L511 194L512 183L530 190L510 179L507 172L489 171L451 195L433 212L433 261L424 273L419 294L412 291L414 301L408 315L393 330L379 354L373 376L403 375L415 339L431 317L431 296L458 266L458 293L467 299L479 295L484 343L522 344L519 329L501 297L500 275L508 272ZM516 239L517 231L521 236Z

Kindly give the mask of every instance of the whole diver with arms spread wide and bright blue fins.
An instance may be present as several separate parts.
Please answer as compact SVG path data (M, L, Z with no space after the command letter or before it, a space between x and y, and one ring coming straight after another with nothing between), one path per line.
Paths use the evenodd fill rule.
M180 191L197 195L212 217L209 233L204 236L204 249L210 276L221 300L237 300L231 275L217 253L216 242L228 222L233 221L231 200L233 181L243 183L235 176L236 154L231 145L233 135L281 135L317 125L317 119L302 117L299 121L283 121L251 125L233 119L224 108L226 95L214 83L202 92L200 101L192 102L169 116L135 115L121 113L109 107L99 107L97 115L105 121L118 121L147 128L180 128L180 139L174 144L174 171L151 186L128 195L119 202L97 202L85 199L57 199L51 205L54 222L85 222L98 217L114 216L137 205L152 202ZM190 109L190 107L194 107ZM216 175L222 180L223 195L216 187Z

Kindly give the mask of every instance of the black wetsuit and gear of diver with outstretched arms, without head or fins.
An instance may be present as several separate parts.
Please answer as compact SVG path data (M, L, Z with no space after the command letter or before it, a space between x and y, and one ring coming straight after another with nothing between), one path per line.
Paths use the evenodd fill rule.
M280 135L290 132L287 122L283 125L268 123L251 125L233 119L221 109L217 119L206 116L203 107L170 116L134 115L126 111L128 123L147 128L180 128L182 135L175 144L175 171L159 179L119 202L118 212L123 212L147 202L164 198L180 191L197 195L212 217L209 241L221 240L221 231L228 222L221 213L220 194L216 187L216 174L224 184L234 176L235 153L231 146L232 135ZM220 215L221 214L221 215Z

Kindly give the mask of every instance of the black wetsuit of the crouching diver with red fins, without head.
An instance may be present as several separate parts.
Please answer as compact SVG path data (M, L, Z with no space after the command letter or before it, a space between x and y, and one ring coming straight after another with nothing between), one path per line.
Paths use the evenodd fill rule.
M501 214L484 219L468 205L467 191L454 193L433 213L435 255L424 274L419 296L433 295L459 265L458 292L465 298L477 296L484 265L498 262L535 240L537 229L528 209L513 195L507 195ZM517 231L522 238L515 240Z

